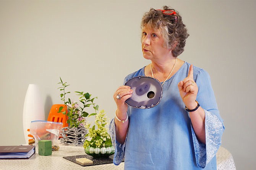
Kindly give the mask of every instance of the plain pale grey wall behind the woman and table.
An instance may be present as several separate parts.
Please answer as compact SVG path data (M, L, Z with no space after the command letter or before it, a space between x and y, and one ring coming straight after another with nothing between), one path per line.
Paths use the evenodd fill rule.
M180 12L190 33L180 58L211 76L226 127L222 146L237 169L254 169L255 1L0 0L0 145L25 143L28 84L40 86L46 117L52 104L62 103L59 76L71 92L97 96L113 118L113 92L149 63L141 52L141 17L163 5Z

